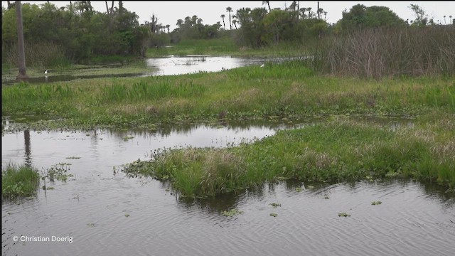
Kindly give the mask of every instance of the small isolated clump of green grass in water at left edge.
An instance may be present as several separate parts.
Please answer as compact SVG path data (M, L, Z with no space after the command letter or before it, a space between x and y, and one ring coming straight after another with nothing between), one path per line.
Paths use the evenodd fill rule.
M29 166L8 164L1 170L1 194L6 198L33 196L39 186L39 174Z

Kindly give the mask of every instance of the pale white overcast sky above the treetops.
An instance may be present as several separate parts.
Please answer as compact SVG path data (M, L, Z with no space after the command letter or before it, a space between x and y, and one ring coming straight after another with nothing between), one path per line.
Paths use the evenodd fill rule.
M11 1L14 2L14 1ZM33 4L43 4L45 1L22 1ZM50 1L55 6L67 6L70 1ZM112 1L107 1L109 6ZM231 15L235 15L237 9L242 7L264 7L268 9L267 4L262 4L262 1L123 1L124 8L128 11L134 11L139 16L139 23L151 21L152 14L158 17L158 22L164 26L171 25L171 31L176 28L176 23L179 18L182 20L186 16L197 15L203 19L203 24L212 25L220 21L222 14L225 14L226 28L229 27L229 14L226 7L232 8ZM269 1L270 7L284 9L284 6L289 6L292 1ZM316 11L318 1L299 1L300 8L311 7L312 11ZM414 20L415 16L410 4L417 4L424 9L429 18L434 18L434 22L444 24L444 15L446 23L450 23L449 16L455 18L455 1L319 1L319 7L327 11L327 21L336 23L342 17L344 9L348 10L355 4L363 4L365 6L387 6L395 12L400 18ZM1 1L2 6L6 6L6 1ZM118 1L115 1L115 6L118 7ZM92 6L96 11L105 12L105 1L92 1Z

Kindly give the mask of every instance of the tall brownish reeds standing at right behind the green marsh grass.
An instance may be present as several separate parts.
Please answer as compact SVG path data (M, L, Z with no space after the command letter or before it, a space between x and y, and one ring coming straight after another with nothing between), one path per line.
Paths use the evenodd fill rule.
M455 75L455 28L376 28L326 38L314 65L323 73L382 78Z

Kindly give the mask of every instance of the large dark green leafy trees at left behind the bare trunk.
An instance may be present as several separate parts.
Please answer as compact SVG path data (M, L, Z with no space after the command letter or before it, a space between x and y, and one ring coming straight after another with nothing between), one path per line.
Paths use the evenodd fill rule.
M149 30L139 26L134 12L120 8L106 14L92 10L90 1L75 1L58 9L54 4L23 4L24 41L30 53L26 54L31 66L53 66L61 60L31 58L29 55L42 52L48 46L58 48L48 56L67 60L84 60L95 55L144 55L144 43ZM15 55L17 48L16 15L14 8L2 10L1 24L2 63L4 53ZM40 42L40 43L37 43ZM60 50L61 49L61 50ZM50 54L49 54L50 53ZM59 54L55 54L59 53ZM60 56L60 57L55 57Z

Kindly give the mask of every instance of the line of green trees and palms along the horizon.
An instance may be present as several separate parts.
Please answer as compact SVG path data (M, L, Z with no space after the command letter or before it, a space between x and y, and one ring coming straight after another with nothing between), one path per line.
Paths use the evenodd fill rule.
M139 16L124 8L122 1L105 2L105 12L95 11L90 1L70 1L70 5L60 8L49 2L39 6L23 4L23 38L28 48L32 49L29 50L32 55L38 56L28 63L43 62L45 56L60 56L73 63L97 56L144 56L146 48L178 43L183 39L210 39L226 35L232 36L239 46L259 48L284 41L311 41L365 28L437 26L422 8L413 4L410 5L416 16L413 21L404 21L385 6L357 4L349 11L343 11L340 21L331 24L326 22L327 12L319 6L313 11L301 8L299 1L293 1L284 9L270 9L269 1L263 1L268 9L242 8L234 11L228 6L225 11L228 13L229 31L225 14L220 16L223 24L217 22L212 25L204 24L197 15L186 16L178 19L177 28L170 31L170 25L158 23L155 15L151 16L151 21L139 24ZM8 63L12 55L4 53L14 52L17 45L14 8L14 4L8 4L7 8L2 6L2 63ZM450 23L453 25L452 21ZM38 55L43 48L47 52ZM26 55L30 58L30 54ZM52 65L55 58L47 61L38 65Z

